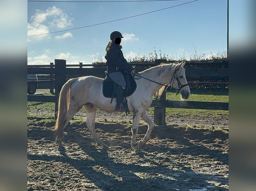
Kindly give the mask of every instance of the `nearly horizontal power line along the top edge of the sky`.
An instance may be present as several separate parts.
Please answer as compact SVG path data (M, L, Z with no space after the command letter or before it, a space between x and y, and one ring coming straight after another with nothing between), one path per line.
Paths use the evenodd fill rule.
M181 1L181 0L130 0L130 1L33 1L28 2L59 2L59 3L114 3L114 2L150 2L150 1Z

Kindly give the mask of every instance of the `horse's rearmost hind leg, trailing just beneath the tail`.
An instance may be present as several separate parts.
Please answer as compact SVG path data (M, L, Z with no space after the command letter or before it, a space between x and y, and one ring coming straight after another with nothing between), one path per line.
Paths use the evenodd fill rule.
M61 135L57 135L56 136L56 142L58 143L58 151L65 151L65 147L61 144L61 139L63 139L63 131L64 128L68 125L69 121L72 119L72 117L74 117L74 115L82 108L82 106L78 106L78 105L73 105L69 107L66 115L65 115L65 123L64 126L62 128L62 132L60 133Z

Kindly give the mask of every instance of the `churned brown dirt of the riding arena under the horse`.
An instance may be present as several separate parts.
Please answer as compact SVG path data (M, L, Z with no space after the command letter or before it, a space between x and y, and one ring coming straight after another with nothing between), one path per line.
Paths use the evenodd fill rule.
M66 152L59 152L54 121L28 119L28 191L229 189L227 117L166 116L167 125L155 125L147 144L135 153L130 145L132 114L101 112L97 116L96 132L109 146L107 150L96 145L85 120L72 120L65 128ZM146 130L141 121L137 141Z

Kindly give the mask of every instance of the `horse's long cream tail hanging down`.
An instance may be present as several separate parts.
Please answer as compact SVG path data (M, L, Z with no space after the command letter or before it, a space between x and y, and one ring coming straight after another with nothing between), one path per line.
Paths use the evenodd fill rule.
M63 138L65 116L68 111L68 106L70 102L70 86L76 80L77 78L68 80L60 90L59 100L58 100L58 111L57 111L58 115L57 115L55 127L53 129L56 137Z

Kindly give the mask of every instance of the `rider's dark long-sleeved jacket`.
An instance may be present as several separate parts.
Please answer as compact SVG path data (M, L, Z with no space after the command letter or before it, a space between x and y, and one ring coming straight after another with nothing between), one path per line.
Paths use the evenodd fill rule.
M134 70L124 58L121 48L121 45L117 45L111 41L108 43L105 55L108 73L117 71L130 73L132 70Z

